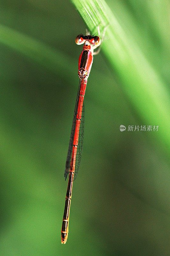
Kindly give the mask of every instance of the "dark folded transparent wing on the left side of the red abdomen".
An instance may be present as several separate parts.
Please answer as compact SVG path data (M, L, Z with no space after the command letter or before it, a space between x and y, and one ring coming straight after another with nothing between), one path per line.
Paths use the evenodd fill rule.
M79 99L79 95L80 95L80 86L81 86L81 79L80 79L79 86L78 86L78 94L77 94L76 105L75 105L75 109L74 109L74 116L73 116L73 123L72 123L72 128L71 128L69 149L68 149L67 159L66 159L66 164L65 164L65 172L64 172L65 180L67 179L67 175L70 172L70 162L71 162L73 139L74 139L74 133L75 133L75 126L76 126L76 115L77 115L77 110L78 110L78 99Z

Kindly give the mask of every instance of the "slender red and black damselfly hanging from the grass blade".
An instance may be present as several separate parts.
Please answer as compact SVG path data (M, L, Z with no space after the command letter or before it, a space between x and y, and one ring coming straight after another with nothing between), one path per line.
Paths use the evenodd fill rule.
M75 39L76 44L84 44L83 50L78 59L78 77L79 86L76 99L76 105L74 109L73 123L71 128L71 136L69 142L69 149L67 153L66 165L64 177L65 180L69 174L68 187L65 199L65 208L63 215L63 224L61 229L61 243L65 244L69 232L69 214L73 181L76 179L78 169L80 165L80 159L82 154L82 145L84 137L84 121L85 121L85 109L84 109L84 96L87 84L87 78L89 77L90 70L93 62L93 52L101 44L99 36L84 36L78 35ZM99 48L98 48L99 49Z

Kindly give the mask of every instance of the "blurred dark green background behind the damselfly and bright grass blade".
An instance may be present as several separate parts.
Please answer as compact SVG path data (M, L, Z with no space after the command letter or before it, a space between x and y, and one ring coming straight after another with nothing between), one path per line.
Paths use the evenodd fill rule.
M168 92L168 1L107 4ZM82 49L74 40L85 28L69 1L1 2L0 255L168 256L169 151L162 131L169 127L136 110L137 98L124 90L126 77L102 51L87 83L83 154L68 241L61 244ZM120 132L121 124L159 130Z

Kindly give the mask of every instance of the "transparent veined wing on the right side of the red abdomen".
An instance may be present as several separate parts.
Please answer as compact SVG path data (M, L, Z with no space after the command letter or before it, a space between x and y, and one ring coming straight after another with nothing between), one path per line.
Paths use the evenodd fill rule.
M77 147L77 154L76 154L74 180L76 179L76 177L78 175L78 169L80 166L81 153L82 153L82 147L83 147L83 138L84 138L84 124L85 124L85 106L84 106L84 102L83 102L80 129L79 129L79 135L78 135L78 147Z

